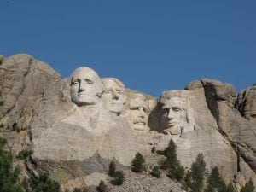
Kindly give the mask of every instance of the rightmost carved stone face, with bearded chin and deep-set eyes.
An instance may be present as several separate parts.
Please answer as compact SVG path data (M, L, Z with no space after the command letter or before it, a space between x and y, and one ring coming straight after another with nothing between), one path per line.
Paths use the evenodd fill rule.
M161 97L161 119L160 123L164 132L178 135L183 132L184 126L188 125L187 111L184 101L180 97Z

